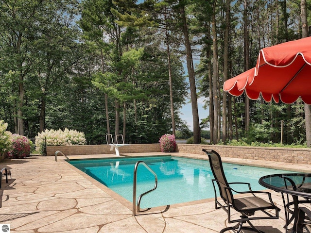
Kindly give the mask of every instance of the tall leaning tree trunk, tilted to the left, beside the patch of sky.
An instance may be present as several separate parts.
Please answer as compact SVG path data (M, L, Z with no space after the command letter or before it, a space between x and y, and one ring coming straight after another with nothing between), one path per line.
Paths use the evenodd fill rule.
M190 98L191 98L191 109L192 109L192 118L193 118L193 143L201 143L201 133L200 133L200 122L199 122L199 112L198 112L198 101L196 95L196 86L195 86L195 77L194 77L194 68L192 63L192 52L188 34L187 20L185 15L185 7L183 5L179 8L180 16L182 20L182 30L185 36L185 47L186 47L186 61L187 69L189 75L189 84L190 84Z

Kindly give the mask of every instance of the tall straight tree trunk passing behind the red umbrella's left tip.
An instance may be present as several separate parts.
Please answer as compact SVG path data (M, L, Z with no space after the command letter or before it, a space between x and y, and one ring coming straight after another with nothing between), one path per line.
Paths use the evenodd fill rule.
M224 83L228 79L230 0L225 1ZM223 92L223 142L227 140L227 92Z

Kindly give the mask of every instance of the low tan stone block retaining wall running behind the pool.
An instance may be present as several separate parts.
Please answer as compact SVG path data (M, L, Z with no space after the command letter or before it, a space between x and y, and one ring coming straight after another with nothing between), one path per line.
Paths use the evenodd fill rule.
M202 149L216 150L221 156L255 159L294 164L311 164L311 149L273 148L273 147L239 147L222 145L177 144L176 152L205 154ZM56 150L65 155L114 154L109 145L85 146L48 146L47 155L53 156ZM120 153L160 152L160 144L131 144L119 149Z

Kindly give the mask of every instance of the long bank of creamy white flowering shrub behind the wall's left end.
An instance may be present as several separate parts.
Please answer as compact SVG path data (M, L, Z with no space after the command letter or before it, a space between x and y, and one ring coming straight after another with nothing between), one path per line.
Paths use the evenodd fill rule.
M86 138L84 133L76 130L45 130L35 136L36 150L40 153L44 149L44 138L46 138L46 146L67 146L67 145L85 145Z

